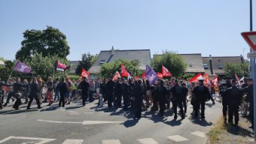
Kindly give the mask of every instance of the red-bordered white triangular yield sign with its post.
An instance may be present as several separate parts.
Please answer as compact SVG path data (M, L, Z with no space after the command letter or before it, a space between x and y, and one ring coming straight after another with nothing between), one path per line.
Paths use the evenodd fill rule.
M255 58L256 58L256 31L249 31L249 32L242 32L242 37L245 39L245 41L248 43L248 45L251 47L253 51L248 52L247 57L251 58L253 61L252 64L252 79L253 79L253 103L254 103L254 141L256 142L256 66L255 66Z

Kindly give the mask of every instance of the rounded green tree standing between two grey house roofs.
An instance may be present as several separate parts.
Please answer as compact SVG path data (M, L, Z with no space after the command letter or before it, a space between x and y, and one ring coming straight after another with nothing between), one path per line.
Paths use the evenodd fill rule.
M187 64L181 55L167 50L162 55L155 55L151 61L151 66L155 71L161 72L162 65L172 73L172 77L181 77L181 74L187 68Z

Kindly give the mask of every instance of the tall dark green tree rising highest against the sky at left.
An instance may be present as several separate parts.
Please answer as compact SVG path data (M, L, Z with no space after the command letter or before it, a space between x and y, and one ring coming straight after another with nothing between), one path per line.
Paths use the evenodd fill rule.
M57 28L47 26L43 31L26 30L23 37L21 48L16 53L16 59L22 62L32 59L36 53L41 53L43 56L58 55L59 58L66 58L69 55L66 35Z

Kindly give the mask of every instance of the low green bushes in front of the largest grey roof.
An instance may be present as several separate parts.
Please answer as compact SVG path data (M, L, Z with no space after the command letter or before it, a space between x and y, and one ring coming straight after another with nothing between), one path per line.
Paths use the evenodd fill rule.
M136 76L136 75L140 76L141 74L144 73L144 71L139 70L139 61L138 60L128 61L128 60L118 59L112 63L105 63L105 64L101 65L100 75L102 77L113 77L116 71L118 71L119 73L121 72L121 64L122 63L124 65L124 67L126 68L126 71L132 72L133 76Z

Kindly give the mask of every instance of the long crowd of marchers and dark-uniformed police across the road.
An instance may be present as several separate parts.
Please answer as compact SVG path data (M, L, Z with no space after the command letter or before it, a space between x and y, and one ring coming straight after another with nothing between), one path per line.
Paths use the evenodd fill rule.
M142 117L142 111L148 109L158 111L160 116L164 116L166 110L172 109L174 118L180 115L183 119L187 113L187 103L190 101L194 118L197 118L200 113L200 118L204 119L206 101L212 101L214 105L213 96L219 94L222 99L224 123L228 120L229 124L237 125L240 110L242 116L248 116L253 124L252 84L251 79L236 82L230 77L227 77L225 83L217 86L212 81L209 84L204 83L204 80L189 83L189 81L175 78L158 79L157 83L150 85L148 80L133 78L130 80L124 78L88 80L84 77L81 80L70 80L69 77L63 77L60 80L58 78L53 80L48 77L44 82L38 76L33 77L30 83L28 80L23 80L21 83L19 77L14 77L9 78L7 83L0 82L0 88L2 88L0 108L6 107L10 100L15 101L15 99L13 106L15 110L19 110L21 104L27 104L29 110L34 99L38 109L41 109L42 103L48 103L50 106L59 101L59 107L65 107L66 104L81 98L84 106L88 99L89 102L99 99L98 106L105 102L109 108L131 110L137 120ZM4 102L5 96L7 98ZM21 98L25 99L24 103ZM172 107L170 107L171 104Z

